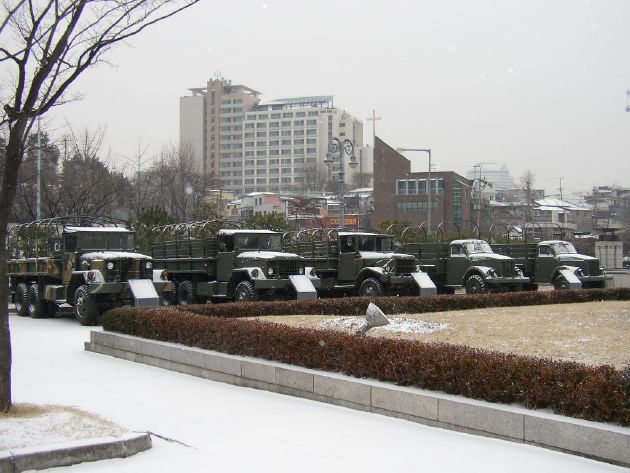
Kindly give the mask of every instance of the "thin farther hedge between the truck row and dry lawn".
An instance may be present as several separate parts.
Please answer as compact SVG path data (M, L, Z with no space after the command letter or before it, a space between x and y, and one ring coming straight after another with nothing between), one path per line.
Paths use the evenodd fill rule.
M496 294L344 297L306 301L260 301L188 305L182 310L212 317L256 317L264 315L362 315L370 302L385 314L419 314L448 310L565 304L571 302L630 300L630 289L580 289L576 291L503 292Z

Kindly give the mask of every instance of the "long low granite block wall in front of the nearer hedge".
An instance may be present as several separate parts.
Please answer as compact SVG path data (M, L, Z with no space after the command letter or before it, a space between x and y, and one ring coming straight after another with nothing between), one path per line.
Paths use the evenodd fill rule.
M85 349L213 381L630 466L628 428L108 332L91 332Z

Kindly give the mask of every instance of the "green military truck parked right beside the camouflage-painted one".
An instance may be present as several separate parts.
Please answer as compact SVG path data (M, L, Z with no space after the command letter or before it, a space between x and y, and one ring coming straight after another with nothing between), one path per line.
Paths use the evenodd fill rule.
M166 303L317 297L304 276L304 259L282 251L281 233L217 225L186 222L153 229L155 265L173 283Z

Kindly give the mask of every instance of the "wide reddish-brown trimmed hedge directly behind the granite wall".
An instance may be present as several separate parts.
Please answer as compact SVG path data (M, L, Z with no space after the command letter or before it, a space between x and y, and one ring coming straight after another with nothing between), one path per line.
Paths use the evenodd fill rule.
M173 307L115 309L105 314L103 328L234 355L490 402L550 408L562 415L630 425L630 379L627 373L624 375L624 371L611 366L590 367L465 346L206 317Z

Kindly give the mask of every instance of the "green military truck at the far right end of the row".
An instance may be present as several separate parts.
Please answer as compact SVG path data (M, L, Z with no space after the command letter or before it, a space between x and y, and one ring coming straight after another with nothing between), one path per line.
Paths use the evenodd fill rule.
M555 289L602 288L606 275L599 260L579 254L562 240L493 244L497 253L514 258L530 285L553 284Z

